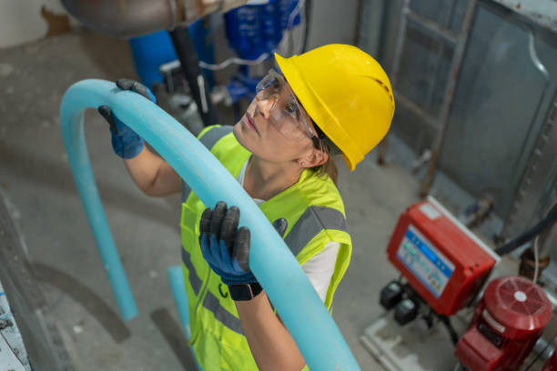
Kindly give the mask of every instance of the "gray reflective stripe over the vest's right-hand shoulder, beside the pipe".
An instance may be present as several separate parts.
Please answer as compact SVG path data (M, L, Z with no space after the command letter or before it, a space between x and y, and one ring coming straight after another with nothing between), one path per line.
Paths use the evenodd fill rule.
M292 254L298 256L304 246L323 229L348 232L346 219L339 210L325 206L309 206L290 229L284 242Z

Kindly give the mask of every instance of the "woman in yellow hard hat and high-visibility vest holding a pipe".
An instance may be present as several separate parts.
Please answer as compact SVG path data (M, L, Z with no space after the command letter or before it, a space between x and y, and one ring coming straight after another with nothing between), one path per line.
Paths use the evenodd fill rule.
M351 254L333 156L350 170L387 133L394 112L388 76L351 45L325 45L283 58L234 126L209 126L199 140L258 204L309 277L325 306ZM130 80L118 86L151 96ZM149 196L182 191L182 260L191 339L205 370L300 370L305 362L288 329L249 271L249 231L238 207L204 206L143 139L113 117L116 154ZM116 127L115 127L116 125ZM296 303L292 303L296 306Z

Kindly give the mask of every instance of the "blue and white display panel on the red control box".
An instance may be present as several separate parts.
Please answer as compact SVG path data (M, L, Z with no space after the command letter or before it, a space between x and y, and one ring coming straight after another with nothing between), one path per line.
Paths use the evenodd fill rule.
M441 296L454 271L454 265L414 226L408 227L397 257L434 296Z

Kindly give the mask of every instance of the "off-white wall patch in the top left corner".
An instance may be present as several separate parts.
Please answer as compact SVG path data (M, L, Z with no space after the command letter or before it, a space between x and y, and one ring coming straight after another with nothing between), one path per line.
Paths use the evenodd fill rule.
M0 0L0 48L25 44L45 37L48 25L41 7L66 14L59 0Z

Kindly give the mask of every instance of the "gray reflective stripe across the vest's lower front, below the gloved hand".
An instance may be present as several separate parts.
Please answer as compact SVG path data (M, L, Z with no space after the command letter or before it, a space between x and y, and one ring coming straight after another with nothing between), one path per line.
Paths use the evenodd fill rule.
M182 247L182 262L184 262L184 265L186 265L187 270L189 271L187 275L189 284L192 286L196 295L199 295L199 290L201 289L203 282L201 281L201 278L197 276L194 266L191 263L191 256L186 249L184 249L184 247ZM207 296L205 296L203 306L210 310L215 318L224 326L227 326L230 330L237 332L239 335L244 335L239 318L233 316L230 312L228 312L228 310L221 306L217 296L214 296L210 291L208 291Z

